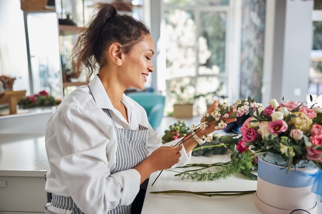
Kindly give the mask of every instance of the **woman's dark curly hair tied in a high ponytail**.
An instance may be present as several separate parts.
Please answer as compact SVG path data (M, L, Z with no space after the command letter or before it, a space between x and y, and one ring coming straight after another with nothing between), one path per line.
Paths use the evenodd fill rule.
M86 69L89 81L93 73L108 63L105 53L111 44L120 43L127 54L147 34L150 34L150 29L143 22L130 15L119 14L112 4L98 6L73 49L76 74Z

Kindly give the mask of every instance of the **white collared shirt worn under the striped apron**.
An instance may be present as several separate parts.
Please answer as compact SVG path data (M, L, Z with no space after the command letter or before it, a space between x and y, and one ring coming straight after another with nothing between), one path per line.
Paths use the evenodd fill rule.
M123 94L129 123L116 110L96 75L88 86L71 92L49 118L45 141L50 170L46 191L71 197L85 213L106 214L117 205L129 205L140 187L140 174L128 169L111 174L116 166L117 139L109 109L117 128L138 130L148 127L147 151L162 146L162 139L148 122L146 111ZM181 139L166 145L174 145ZM181 150L180 162L188 163Z

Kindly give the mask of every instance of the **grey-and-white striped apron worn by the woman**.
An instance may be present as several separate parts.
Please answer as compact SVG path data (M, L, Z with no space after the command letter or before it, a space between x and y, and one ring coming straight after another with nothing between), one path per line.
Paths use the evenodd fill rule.
M117 128L108 109L103 109L112 120L117 137L115 173L135 167L146 158L148 128L139 125L139 130ZM51 206L70 210L70 214L85 214L70 197L52 194ZM45 209L46 214L55 214ZM95 213L95 210L93 211ZM108 214L130 214L131 205L120 205L110 210ZM135 213L134 213L135 214Z

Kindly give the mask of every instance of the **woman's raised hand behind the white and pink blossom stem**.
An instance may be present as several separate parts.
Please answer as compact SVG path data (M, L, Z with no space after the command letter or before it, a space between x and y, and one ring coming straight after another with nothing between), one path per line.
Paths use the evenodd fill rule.
M207 113L209 114L209 115L211 115L211 113L216 109L216 107L219 105L219 102L218 101L214 101L213 103L212 103L212 105L210 106L210 108L207 110ZM230 111L228 114L230 115L230 114L232 114L233 112L232 111ZM205 116L203 116L202 118L201 118L201 120L200 120L200 122L204 122L206 120L206 118L205 118ZM225 123L226 124L228 124L228 123L231 123L231 122L236 122L237 121L237 119L236 118L224 118L223 116L221 117L221 120L223 120L223 121L225 121ZM207 128L205 128L204 130L200 130L200 131L198 131L198 132L196 132L196 134L198 135L198 137L200 138L200 139L202 139L202 137L203 137L203 135L208 135L208 134L210 134L210 133L212 133L213 131L216 131L216 130L220 130L220 129L215 129L214 127L214 123L215 123L216 121L209 121L208 122L208 127Z

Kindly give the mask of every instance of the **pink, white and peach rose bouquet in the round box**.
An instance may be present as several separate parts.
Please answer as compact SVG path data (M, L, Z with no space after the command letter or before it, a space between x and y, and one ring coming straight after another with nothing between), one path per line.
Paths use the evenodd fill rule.
M272 154L267 162L282 165L287 172L292 167L309 167L310 163L322 169L320 107L294 101L278 103L272 99L268 106L254 111L240 130L240 145L249 146L263 157Z

